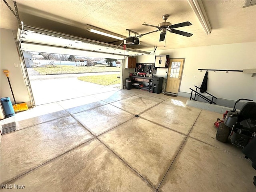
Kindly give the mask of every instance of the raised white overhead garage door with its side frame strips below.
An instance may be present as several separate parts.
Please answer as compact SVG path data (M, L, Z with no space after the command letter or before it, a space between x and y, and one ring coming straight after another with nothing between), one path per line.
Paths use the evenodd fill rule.
M20 31L19 45L22 51L28 52L66 54L94 58L113 58L121 60L124 60L127 56L150 54L149 52L135 50L132 48L126 48L124 50L123 46L97 42L30 26L24 26L23 30ZM28 79L29 82L24 58L23 61L24 77ZM122 73L123 70L121 70L120 74L121 79ZM123 81L121 81L121 84L122 83ZM28 83L28 86L30 86L30 83ZM123 85L121 86L123 87ZM30 88L29 90L33 98L32 89ZM32 104L32 106L35 106L35 103Z

